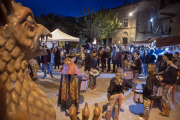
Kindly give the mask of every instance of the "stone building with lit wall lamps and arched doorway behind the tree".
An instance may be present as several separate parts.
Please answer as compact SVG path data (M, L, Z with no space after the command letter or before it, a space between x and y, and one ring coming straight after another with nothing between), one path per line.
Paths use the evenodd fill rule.
M139 2L112 8L118 13L122 25L105 40L106 44L130 44L161 36L162 20L158 18L159 5L156 0Z

